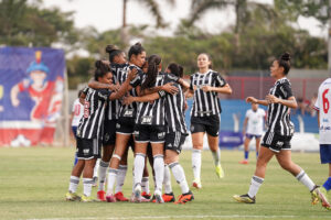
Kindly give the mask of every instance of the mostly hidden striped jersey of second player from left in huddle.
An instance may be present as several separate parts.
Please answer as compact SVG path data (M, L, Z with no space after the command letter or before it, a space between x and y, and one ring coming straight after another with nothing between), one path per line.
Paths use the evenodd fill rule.
M122 70L128 66L128 64L110 64L110 69L113 73L113 84L119 82L119 77ZM120 108L120 101L118 99L109 100L106 108L105 120L116 120L118 119L118 112Z

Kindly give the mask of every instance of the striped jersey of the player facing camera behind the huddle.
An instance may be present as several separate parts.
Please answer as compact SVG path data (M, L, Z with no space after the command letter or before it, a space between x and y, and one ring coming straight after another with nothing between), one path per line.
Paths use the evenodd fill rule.
M205 74L196 73L191 76L190 89L193 90L193 107L191 117L209 117L222 112L218 94L214 91L204 92L203 86L224 87L225 79L220 73L210 69Z

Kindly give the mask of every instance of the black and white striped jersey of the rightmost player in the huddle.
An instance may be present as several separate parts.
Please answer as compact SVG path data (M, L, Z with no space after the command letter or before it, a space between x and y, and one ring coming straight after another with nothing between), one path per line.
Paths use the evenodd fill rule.
M171 81L174 82L172 86L175 86L179 89L179 92L175 95L168 94L166 97L166 122L168 132L181 132L182 134L186 134L185 96L182 87L175 82L177 80L168 81L166 79L164 84Z

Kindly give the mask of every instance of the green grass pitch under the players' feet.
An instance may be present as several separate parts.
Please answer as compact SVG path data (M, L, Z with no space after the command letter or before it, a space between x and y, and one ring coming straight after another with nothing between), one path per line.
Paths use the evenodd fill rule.
M330 219L331 212L320 205L311 206L310 194L290 174L284 172L274 158L267 169L256 205L237 204L234 194L246 194L255 168L255 156L249 165L241 165L243 153L223 151L225 178L214 174L210 152L203 153L202 186L193 190L195 200L186 205L129 202L70 202L64 200L68 187L74 148L32 147L0 148L0 219ZM297 162L310 177L322 184L328 167L319 162L317 153L293 153ZM131 170L132 156L130 155ZM191 152L181 155L189 184L192 182ZM131 172L124 187L131 191ZM174 194L179 186L172 178ZM152 185L152 184L151 184ZM78 188L82 193L82 186ZM94 189L94 195L96 189Z

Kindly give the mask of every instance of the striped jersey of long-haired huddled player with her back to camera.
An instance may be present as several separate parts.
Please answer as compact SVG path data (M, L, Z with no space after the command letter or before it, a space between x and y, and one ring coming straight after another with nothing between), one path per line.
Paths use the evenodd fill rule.
M159 73L154 86L163 86L167 74ZM145 80L145 79L143 79ZM143 82L142 80L142 82ZM136 124L166 125L166 92L159 91L160 98L152 102L140 102Z

